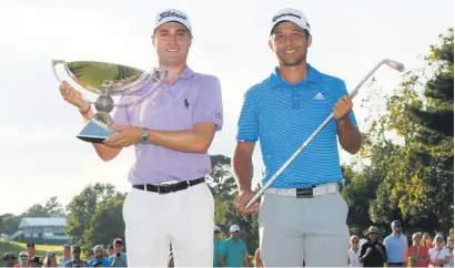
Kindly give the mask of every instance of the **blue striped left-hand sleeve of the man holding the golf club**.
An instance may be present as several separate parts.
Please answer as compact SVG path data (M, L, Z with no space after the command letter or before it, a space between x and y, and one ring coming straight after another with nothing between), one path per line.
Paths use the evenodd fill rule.
M259 137L257 109L253 93L250 89L243 95L242 110L237 122L237 142L254 143Z

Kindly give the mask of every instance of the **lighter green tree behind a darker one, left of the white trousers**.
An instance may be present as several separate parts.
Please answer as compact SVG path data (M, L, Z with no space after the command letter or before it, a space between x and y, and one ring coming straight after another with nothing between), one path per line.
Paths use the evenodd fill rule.
M69 204L67 234L73 236L77 240L81 239L83 233L90 229L92 216L95 215L98 207L110 199L118 198L119 195L121 194L115 194L115 187L112 184L97 183L85 187Z

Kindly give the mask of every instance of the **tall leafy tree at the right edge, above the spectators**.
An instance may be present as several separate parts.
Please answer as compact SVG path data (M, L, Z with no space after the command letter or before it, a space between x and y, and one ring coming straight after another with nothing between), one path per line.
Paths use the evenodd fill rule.
M385 114L372 121L361 155L383 181L370 202L376 224L453 225L453 29L441 35L424 58L426 68L406 73L385 99Z

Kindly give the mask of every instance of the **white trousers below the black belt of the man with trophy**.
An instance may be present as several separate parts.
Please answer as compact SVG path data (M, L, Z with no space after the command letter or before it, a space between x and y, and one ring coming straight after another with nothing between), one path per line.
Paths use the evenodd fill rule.
M213 267L214 202L205 183L171 194L132 188L123 204L129 267Z

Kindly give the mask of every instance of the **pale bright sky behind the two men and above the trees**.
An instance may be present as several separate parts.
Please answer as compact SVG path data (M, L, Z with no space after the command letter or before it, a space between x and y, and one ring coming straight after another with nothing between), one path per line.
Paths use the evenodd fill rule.
M225 155L233 152L244 91L276 65L267 33L280 9L303 11L313 34L309 62L343 79L348 91L382 59L403 62L407 71L418 68L418 55L454 23L452 0L0 1L0 215L20 214L54 195L65 205L97 182L129 190L133 148L104 163L91 144L75 138L82 120L61 99L50 62L108 61L150 70L158 63L150 39L154 18L169 8L186 12L192 22L189 65L221 81L224 127L210 153ZM397 87L401 75L388 68L375 74L385 92ZM368 116L360 107L366 94L361 90L354 100L361 128ZM341 163L348 161L341 152ZM260 150L254 166L257 181Z

